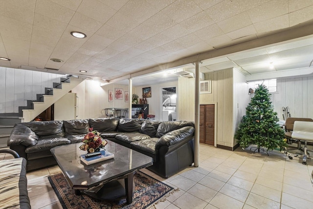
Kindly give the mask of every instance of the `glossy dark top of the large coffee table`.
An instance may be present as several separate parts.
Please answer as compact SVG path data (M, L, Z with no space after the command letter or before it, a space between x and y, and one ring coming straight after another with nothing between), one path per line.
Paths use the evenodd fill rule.
M51 152L60 166L67 182L73 189L88 189L103 182L120 178L135 170L152 165L153 159L137 151L109 141L105 149L114 158L91 165L80 162L80 155L87 151L79 149L81 143L57 146Z

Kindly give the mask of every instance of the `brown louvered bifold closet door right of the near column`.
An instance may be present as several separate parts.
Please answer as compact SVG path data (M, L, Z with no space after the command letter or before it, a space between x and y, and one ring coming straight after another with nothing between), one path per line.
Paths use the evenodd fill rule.
M200 105L200 143L214 145L214 105Z

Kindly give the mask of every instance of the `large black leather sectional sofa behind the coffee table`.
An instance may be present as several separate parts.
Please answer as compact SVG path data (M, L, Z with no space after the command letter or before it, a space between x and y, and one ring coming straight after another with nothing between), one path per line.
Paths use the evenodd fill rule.
M169 177L194 163L194 123L128 118L98 118L18 123L8 146L27 160L26 170L57 164L50 149L81 142L89 127L112 140L154 159L148 167Z

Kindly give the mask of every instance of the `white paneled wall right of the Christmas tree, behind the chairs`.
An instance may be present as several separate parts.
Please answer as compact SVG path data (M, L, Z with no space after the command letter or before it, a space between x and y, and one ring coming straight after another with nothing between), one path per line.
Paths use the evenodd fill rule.
M291 117L313 118L313 76L277 79L277 93L271 101L278 117L283 119L282 107L289 107Z

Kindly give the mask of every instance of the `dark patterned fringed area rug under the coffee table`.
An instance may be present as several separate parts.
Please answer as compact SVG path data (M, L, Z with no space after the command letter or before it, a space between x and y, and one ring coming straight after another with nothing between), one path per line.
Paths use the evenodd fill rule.
M127 205L126 198L119 201L101 201L88 195L75 195L62 173L48 177L63 209L146 209L164 201L166 196L176 191L155 178L137 171L134 174L133 203Z

